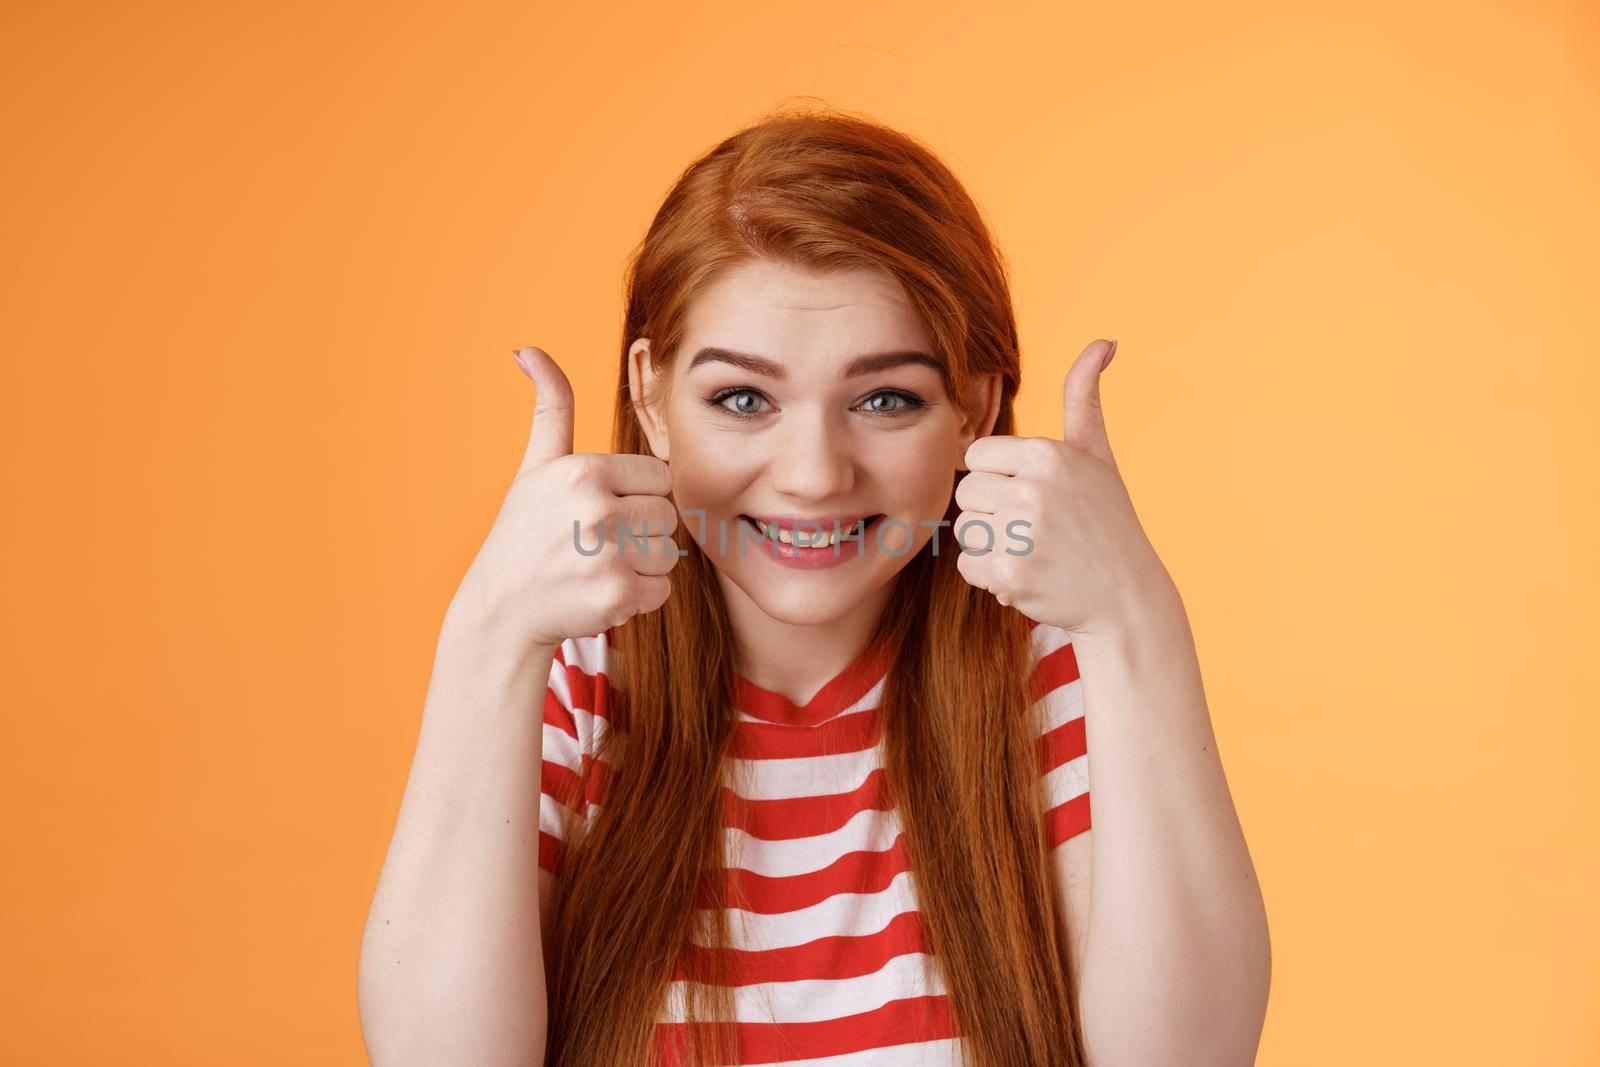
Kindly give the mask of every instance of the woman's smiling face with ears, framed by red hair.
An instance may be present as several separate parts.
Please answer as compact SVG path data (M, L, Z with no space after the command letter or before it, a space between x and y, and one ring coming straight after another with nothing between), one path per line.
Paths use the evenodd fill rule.
M685 528L725 592L795 625L886 593L998 406L994 378L955 403L899 282L870 269L739 264L693 301L664 382L648 344L630 387Z

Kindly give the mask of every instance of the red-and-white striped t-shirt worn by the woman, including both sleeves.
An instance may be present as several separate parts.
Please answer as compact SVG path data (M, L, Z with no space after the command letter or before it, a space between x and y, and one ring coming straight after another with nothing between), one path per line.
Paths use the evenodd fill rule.
M1051 848L1090 829L1083 694L1067 633L1032 629L1034 710ZM544 704L539 865L562 867L557 797L606 729L606 635L563 641ZM878 696L886 662L866 649L805 705L738 678L725 777L725 867L749 909L731 949L691 944L656 1022L661 1062L682 1040L696 957L731 952L739 1064L957 1064L960 1029L930 966L901 822L885 800ZM595 806L586 800L586 814ZM728 899L741 899L733 893Z

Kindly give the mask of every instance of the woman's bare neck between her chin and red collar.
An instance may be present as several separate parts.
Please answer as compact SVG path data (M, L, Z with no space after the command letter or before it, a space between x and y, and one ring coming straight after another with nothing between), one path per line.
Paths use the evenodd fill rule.
M861 654L894 590L894 582L885 582L843 616L795 624L762 611L720 573L717 582L728 606L739 673L794 704L808 702Z

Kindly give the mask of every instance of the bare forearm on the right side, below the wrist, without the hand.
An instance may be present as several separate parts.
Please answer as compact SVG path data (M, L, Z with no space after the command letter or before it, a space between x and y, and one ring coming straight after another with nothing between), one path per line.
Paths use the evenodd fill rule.
M1093 1067L1246 1065L1267 1009L1267 917L1178 590L1072 640L1094 798L1078 989Z

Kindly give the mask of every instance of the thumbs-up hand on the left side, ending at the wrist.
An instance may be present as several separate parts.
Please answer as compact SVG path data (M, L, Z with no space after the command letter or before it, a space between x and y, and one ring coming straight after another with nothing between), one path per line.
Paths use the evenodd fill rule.
M678 510L654 456L573 454L566 374L541 349L514 355L536 389L533 429L453 608L523 649L554 649L666 603Z

